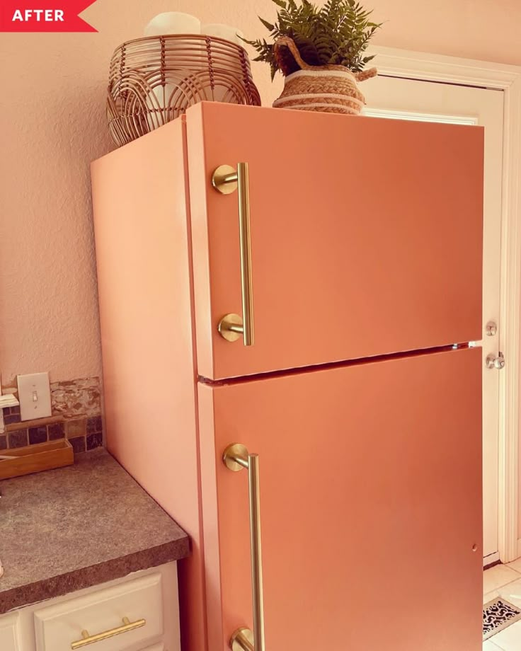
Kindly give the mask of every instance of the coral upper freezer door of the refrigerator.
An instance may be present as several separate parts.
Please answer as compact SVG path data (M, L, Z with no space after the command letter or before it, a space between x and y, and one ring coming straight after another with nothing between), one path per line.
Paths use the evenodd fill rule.
M481 339L481 127L222 103L186 119L201 376ZM214 190L212 173L239 162L249 347L217 330L243 316L243 287L238 191Z

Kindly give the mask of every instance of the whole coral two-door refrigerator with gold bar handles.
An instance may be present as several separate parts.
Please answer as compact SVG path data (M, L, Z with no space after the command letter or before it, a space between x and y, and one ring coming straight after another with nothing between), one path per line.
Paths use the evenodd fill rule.
M481 650L483 129L200 103L91 175L183 651Z

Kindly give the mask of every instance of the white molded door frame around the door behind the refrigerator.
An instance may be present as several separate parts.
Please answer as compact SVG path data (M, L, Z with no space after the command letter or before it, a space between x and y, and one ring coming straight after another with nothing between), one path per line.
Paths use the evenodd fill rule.
M521 339L521 67L442 54L372 47L379 74L504 93L503 197L500 253L500 339L506 364L499 371L498 551L503 563L518 545ZM519 546L519 551L518 551Z

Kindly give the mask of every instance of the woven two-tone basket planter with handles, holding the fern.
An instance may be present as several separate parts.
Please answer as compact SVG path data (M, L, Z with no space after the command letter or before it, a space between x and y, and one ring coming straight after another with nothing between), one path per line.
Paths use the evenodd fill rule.
M358 81L370 79L377 74L376 68L351 72L345 66L310 66L300 56L294 40L282 36L275 42L275 57L282 72L285 70L281 48L287 47L300 70L285 77L284 91L273 102L275 108L346 113L358 115L365 105L365 98L357 86Z

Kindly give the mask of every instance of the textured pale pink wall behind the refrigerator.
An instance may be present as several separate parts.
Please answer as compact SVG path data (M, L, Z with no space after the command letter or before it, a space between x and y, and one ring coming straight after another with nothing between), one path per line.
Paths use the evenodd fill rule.
M374 0L387 20L380 45L521 64L519 0ZM111 144L107 67L115 45L151 16L188 11L205 22L262 33L269 0L97 0L85 13L98 34L0 37L0 370L50 370L52 380L98 375L100 350L88 163ZM253 65L265 103L281 87Z

